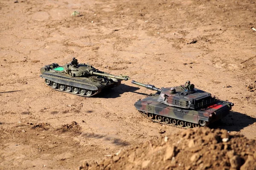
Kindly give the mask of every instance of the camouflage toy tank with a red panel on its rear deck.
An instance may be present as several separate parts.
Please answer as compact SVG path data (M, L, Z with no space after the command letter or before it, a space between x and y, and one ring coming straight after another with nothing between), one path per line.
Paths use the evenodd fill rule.
M147 114L151 121L170 126L191 128L204 127L229 114L233 103L221 101L210 93L195 89L187 81L185 85L157 88L153 85L131 83L155 90L157 93L137 101L134 106Z

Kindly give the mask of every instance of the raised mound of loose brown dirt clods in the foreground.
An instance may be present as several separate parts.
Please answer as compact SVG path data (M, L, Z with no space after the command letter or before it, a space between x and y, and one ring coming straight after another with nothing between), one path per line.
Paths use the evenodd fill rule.
M189 129L147 141L99 163L78 169L256 169L256 144L226 130Z

